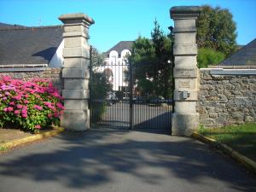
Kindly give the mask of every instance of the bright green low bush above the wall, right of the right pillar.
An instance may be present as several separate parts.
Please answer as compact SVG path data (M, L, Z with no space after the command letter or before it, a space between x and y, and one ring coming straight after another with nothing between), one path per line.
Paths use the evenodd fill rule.
M218 65L223 61L225 55L210 48L200 48L197 55L197 65L199 68L207 68L208 65Z

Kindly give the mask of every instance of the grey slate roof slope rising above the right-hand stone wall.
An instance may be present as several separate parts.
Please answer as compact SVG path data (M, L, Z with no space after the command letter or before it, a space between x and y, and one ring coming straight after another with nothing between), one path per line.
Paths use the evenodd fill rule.
M256 66L256 38L231 55L220 66Z

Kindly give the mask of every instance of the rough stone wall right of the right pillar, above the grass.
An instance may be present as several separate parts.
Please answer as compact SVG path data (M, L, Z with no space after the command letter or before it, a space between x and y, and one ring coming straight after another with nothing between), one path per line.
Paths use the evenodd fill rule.
M200 124L206 127L256 122L256 71L201 69Z

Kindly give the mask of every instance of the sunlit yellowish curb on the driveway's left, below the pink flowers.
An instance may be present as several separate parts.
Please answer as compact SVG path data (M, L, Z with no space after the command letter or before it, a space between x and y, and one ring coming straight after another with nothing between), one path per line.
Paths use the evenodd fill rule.
M21 138L21 139L16 139L14 141L11 142L7 142L7 143L3 143L0 145L0 148L4 148L4 151L7 151L9 148L15 148L18 145L21 144L25 144L25 143L31 143L34 141L38 141L47 137L54 137L55 135L61 133L62 131L64 131L65 129L62 127L54 127L55 130L52 131L47 131L47 132L43 132L43 133L38 133L36 135L33 136L29 136L29 137L25 137L25 138Z

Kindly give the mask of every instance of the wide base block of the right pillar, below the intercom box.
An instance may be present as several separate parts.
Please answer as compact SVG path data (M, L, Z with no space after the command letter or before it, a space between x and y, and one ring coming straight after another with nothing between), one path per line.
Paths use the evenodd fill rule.
M172 135L189 136L199 124L199 113L172 113Z

